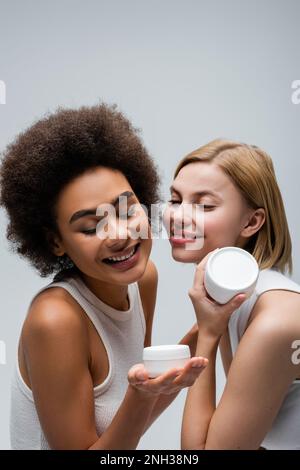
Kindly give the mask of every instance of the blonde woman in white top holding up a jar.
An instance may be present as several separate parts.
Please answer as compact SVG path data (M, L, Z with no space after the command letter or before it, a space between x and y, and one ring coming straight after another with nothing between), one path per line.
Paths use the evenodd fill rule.
M197 227L184 220L185 203L204 206L202 248L191 249ZM175 171L165 222L173 258L197 263L189 291L199 326L195 354L209 360L187 394L182 448L300 449L300 286L285 274L292 247L271 158L227 140L190 153ZM175 237L183 222L191 228ZM241 295L233 314L203 284L209 253L225 246L249 251L260 267L255 292ZM218 347L227 382L216 406Z

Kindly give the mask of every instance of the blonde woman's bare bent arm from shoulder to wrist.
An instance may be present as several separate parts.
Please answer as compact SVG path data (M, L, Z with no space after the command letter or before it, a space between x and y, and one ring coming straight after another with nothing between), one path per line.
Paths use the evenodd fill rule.
M300 337L299 310L298 294L272 291L259 298L217 408L219 337L199 328L196 354L206 354L210 363L188 391L182 426L184 449L259 448L291 382L299 375L299 365L291 360L291 344Z

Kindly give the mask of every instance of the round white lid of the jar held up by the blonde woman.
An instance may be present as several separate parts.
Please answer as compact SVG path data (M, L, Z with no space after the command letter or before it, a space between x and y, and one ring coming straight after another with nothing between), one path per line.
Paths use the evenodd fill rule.
M215 251L206 269L219 287L238 290L255 283L259 271L256 259L248 251L233 246Z

